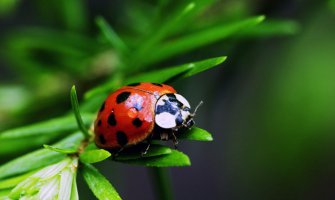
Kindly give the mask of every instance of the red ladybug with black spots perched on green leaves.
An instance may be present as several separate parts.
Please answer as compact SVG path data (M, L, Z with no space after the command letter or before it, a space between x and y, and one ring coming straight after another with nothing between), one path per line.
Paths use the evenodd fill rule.
M94 123L95 143L103 149L123 149L146 140L148 150L157 136L172 139L176 146L176 134L194 125L194 115L189 102L169 85L129 84L102 104Z

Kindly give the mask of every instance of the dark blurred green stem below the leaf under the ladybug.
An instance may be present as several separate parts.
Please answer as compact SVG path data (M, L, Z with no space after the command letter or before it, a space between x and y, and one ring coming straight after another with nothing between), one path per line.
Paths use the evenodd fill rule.
M167 169L161 167L152 167L149 168L149 173L151 175L152 184L154 186L156 199L173 199L171 178L168 174Z

